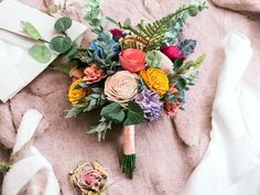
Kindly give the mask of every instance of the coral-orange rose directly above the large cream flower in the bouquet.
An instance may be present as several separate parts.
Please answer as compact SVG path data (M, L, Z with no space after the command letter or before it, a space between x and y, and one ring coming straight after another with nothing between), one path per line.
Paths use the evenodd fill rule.
M119 55L123 69L137 73L145 68L145 53L137 48L127 48Z

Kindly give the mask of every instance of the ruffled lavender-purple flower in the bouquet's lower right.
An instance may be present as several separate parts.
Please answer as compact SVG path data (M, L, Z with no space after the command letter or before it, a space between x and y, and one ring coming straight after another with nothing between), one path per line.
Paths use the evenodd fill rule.
M152 121L160 117L162 102L156 93L144 88L141 93L137 94L134 100L142 108L147 121Z

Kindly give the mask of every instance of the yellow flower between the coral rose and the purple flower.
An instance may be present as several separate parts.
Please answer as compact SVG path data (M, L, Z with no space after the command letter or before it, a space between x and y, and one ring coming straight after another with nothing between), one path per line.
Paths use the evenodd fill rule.
M163 95L169 90L169 79L162 69L154 67L143 69L140 72L140 76L148 87L158 93L160 97L163 97Z

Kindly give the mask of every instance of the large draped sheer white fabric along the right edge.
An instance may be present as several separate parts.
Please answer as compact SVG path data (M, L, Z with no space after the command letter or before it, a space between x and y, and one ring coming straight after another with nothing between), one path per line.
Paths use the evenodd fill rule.
M260 79L242 77L252 48L237 33L227 35L223 47L212 141L182 195L260 195Z

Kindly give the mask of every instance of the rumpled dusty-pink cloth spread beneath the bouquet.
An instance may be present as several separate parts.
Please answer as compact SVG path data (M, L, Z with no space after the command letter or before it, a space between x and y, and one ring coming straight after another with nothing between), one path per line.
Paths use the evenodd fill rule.
M23 0L39 9L41 0ZM41 3L39 3L41 2ZM78 1L77 1L78 2ZM131 18L154 20L175 10L182 0L104 0L102 14L122 21ZM78 4L68 7L68 13L76 19L82 11ZM202 53L207 59L201 68L198 84L186 95L186 111L178 112L175 120L163 116L160 120L137 127L137 172L132 181L119 170L122 154L122 131L115 128L106 141L85 134L95 124L98 113L83 115L76 119L64 119L64 110L69 108L66 93L69 78L66 75L45 71L30 86L24 88L10 102L0 104L0 141L11 147L14 129L28 108L36 108L44 116L39 130L44 133L35 145L53 164L64 195L74 194L67 181L68 172L80 161L97 160L109 172L111 195L176 195L201 161L210 130L210 111L219 69L224 54L219 47L224 35L230 30L240 31L252 40L254 56L249 66L251 74L259 68L260 22L256 15L242 15L209 4L209 9L196 19L188 20L184 36L196 39L198 45L191 57ZM89 32L85 42L93 37ZM7 155L6 155L7 156ZM1 156L0 156L1 158Z

